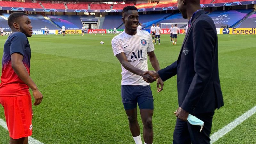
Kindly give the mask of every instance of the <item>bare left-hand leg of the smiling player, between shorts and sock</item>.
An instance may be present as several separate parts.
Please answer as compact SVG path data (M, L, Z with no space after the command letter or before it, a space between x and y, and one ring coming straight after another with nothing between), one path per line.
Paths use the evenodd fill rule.
M126 105L126 104L125 104ZM129 110L125 110L126 115L128 116L130 131L133 137L140 135L140 126L137 121L137 107Z

